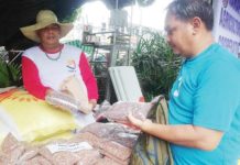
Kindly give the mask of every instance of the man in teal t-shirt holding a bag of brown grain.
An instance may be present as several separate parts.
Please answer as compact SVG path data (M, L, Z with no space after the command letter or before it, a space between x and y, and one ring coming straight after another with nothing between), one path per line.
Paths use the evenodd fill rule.
M240 62L214 43L214 12L204 0L175 0L165 30L185 57L171 90L170 125L129 120L166 140L176 165L236 165L240 158Z

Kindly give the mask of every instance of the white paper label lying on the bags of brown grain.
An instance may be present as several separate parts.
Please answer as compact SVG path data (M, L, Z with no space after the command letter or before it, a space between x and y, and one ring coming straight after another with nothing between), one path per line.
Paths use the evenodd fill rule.
M50 150L50 152L56 153L56 152L78 152L81 150L91 150L92 146L88 142L80 142L80 143L55 143L46 145L46 147Z

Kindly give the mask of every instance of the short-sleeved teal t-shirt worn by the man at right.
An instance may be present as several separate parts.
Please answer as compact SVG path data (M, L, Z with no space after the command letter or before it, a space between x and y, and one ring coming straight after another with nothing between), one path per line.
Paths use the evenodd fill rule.
M185 59L171 90L170 124L223 132L214 151L171 144L175 165L236 165L240 158L240 59L218 44Z

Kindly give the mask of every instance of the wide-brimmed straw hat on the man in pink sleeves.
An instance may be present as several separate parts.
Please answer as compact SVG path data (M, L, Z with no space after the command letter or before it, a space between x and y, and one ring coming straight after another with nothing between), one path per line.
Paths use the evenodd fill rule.
M53 23L61 26L61 37L65 36L74 26L72 23L59 23L53 11L41 10L36 15L35 24L21 28L20 30L28 38L39 43L40 37L37 36L36 31L44 29Z

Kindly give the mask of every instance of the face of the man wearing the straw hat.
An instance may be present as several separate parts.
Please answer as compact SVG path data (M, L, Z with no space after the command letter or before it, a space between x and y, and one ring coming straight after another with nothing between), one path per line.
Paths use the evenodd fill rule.
M51 24L41 29L37 34L42 44L55 45L59 43L61 29L57 24Z

